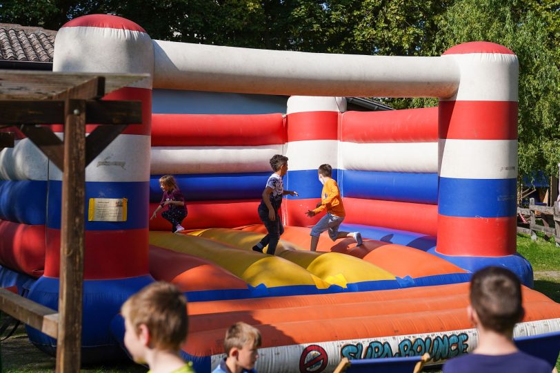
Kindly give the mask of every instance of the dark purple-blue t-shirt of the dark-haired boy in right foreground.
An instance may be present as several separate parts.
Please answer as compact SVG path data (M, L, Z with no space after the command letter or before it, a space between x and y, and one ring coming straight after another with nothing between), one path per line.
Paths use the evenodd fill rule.
M450 359L443 373L550 373L552 367L544 360L525 352L507 355L468 354Z

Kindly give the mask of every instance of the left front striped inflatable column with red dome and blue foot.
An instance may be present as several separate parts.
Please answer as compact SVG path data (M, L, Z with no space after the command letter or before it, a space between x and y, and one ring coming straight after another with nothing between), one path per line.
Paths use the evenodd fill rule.
M150 73L154 52L150 36L137 24L107 15L74 19L57 33L54 71ZM153 281L148 274L148 200L151 79L106 95L107 100L141 100L143 123L130 125L86 168L86 203L90 198L126 198L126 222L94 222L86 216L82 360L122 354L109 332L122 302ZM90 133L95 125L86 126ZM63 136L63 127L52 126ZM46 260L43 277L30 299L57 309L62 174L48 167ZM86 214L87 214L86 209ZM28 328L39 348L53 352L56 341Z

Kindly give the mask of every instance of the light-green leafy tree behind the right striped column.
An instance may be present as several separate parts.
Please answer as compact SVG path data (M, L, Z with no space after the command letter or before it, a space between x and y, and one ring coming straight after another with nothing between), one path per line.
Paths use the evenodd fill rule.
M467 41L492 41L517 54L520 174L535 169L556 174L560 162L560 61L558 39L550 39L558 32L560 14L543 3L457 1L444 14L434 43L434 51L443 52Z

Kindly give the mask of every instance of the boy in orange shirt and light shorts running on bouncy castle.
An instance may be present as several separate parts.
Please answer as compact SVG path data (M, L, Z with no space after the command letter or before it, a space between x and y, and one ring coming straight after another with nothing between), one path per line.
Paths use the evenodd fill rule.
M362 244L361 234L359 232L339 232L339 226L346 216L344 205L342 204L342 197L340 189L332 176L332 167L330 164L321 164L319 166L319 182L323 184L323 191L321 191L321 202L317 204L317 209L312 211L308 210L306 213L308 217L313 217L327 209L327 215L323 216L317 224L311 229L311 251L317 251L317 243L319 242L319 235L328 230L328 235L333 241L339 238L352 237L356 240L357 246Z

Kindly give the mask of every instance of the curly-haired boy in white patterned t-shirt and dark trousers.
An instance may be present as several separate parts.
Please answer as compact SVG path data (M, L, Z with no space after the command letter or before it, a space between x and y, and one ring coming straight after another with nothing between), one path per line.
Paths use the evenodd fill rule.
M284 233L284 227L280 221L278 210L282 204L283 195L298 195L295 191L285 191L282 176L288 172L288 157L277 154L270 158L270 167L272 167L272 175L266 182L266 188L263 191L261 204L257 212L266 227L268 234L261 239L261 242L253 246L254 251L263 252L264 246L268 245L267 254L274 255L276 246L280 240L280 235Z

